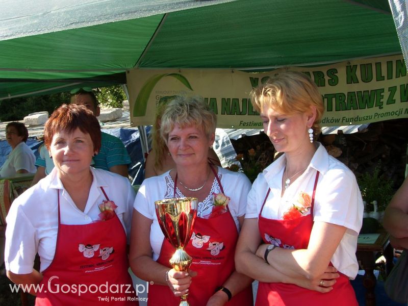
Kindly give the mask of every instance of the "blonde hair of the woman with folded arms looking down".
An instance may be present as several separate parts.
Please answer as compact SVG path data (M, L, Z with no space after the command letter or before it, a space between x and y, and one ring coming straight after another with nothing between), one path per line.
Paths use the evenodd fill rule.
M316 84L308 75L297 71L280 72L250 93L253 107L260 112L264 105L275 111L293 115L316 108L312 125L314 134L320 133L319 121L324 112L323 99Z

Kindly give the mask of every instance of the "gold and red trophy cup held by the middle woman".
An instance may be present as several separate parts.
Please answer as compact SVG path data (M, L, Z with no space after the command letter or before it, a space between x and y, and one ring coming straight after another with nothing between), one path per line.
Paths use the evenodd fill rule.
M176 271L187 271L192 258L184 250L193 234L194 220L197 215L198 199L170 198L156 201L156 214L164 237L175 248L169 263ZM180 298L180 306L189 306L187 295Z

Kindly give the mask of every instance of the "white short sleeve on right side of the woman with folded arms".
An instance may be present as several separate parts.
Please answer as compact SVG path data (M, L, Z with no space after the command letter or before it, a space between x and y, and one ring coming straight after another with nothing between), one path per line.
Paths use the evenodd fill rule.
M314 221L345 226L353 235L358 235L363 211L363 199L354 174L345 169L327 171L316 189Z

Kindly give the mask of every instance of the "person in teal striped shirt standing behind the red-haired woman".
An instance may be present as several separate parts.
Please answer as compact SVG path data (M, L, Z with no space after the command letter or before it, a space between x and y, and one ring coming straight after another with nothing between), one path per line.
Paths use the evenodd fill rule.
M96 117L100 114L99 102L92 89L89 89L89 91L78 90L72 95L71 104L84 105ZM98 154L93 157L93 167L129 177L127 166L131 163L131 158L127 154L123 142L113 135L101 132L101 143ZM49 160L47 161L47 158L42 156L41 151L35 165L37 166L37 172L31 183L32 186L37 184L39 180L48 175L53 169L52 161L49 163Z

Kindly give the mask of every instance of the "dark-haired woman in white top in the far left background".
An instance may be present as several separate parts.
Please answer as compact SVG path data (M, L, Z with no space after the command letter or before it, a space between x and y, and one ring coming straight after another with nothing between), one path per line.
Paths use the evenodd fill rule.
M15 176L18 173L35 173L35 155L30 147L25 144L29 138L29 132L24 123L8 123L6 138L11 146L11 152L0 169L0 177Z

